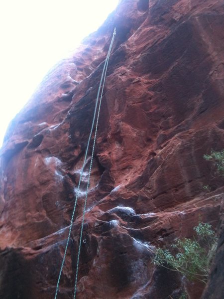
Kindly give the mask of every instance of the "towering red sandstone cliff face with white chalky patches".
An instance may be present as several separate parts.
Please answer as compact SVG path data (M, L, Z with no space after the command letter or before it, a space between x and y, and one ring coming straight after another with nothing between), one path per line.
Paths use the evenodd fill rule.
M0 158L0 298L54 297L114 26L77 298L201 297L204 286L151 257L199 220L219 222L224 181L203 154L224 148L223 0L121 0L12 121ZM73 298L90 155L59 299Z

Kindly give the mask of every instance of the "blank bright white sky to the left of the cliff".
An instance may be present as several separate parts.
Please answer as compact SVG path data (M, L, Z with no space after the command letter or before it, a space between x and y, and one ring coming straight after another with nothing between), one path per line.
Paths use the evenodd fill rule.
M47 71L74 50L118 0L0 0L0 147L10 120Z

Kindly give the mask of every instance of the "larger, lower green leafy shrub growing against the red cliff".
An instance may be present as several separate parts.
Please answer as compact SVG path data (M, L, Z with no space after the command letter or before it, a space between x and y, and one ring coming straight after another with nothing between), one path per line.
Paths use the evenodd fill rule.
M153 263L178 271L190 281L206 283L217 247L217 238L208 223L199 223L194 230L197 234L195 238L177 240L171 245L171 251L156 249Z

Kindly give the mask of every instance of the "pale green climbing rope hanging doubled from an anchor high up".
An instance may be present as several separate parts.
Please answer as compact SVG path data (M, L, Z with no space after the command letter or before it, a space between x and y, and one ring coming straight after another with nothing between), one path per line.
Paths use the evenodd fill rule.
M87 197L88 197L88 189L89 189L89 184L90 184L90 174L91 174L91 169L92 169L92 164L93 164L94 149L95 149L96 138L97 138L99 115L100 115L101 102L102 102L103 91L104 91L104 86L105 86L106 73L107 73L107 69L108 69L109 57L110 57L110 54L111 54L112 44L113 44L113 41L114 41L114 38L115 38L115 34L116 34L116 29L114 28L113 36L112 36L112 41L111 41L111 44L110 44L110 47L109 47L109 50L108 50L107 58L106 58L105 63L104 63L104 68L103 68L103 72L102 72L102 76L101 76L101 81L100 81L100 85L99 85L99 88L98 88L98 93L97 93L97 99L96 99L96 104L95 104L95 110L94 110L94 117L93 117L92 127L91 127L91 130L90 130L90 135L89 135L89 139L88 139L88 143L87 143L87 148L86 148L86 152L85 152L83 166L82 166L82 170L81 170L81 174L80 174L80 179L79 179L79 183L78 183L78 188L77 188L77 192L76 192L76 199L75 199L75 204L74 204L74 208L73 208L73 212L72 212L71 224L70 224L70 227L69 227L68 239L67 239L66 246L65 246L65 252L64 252L64 256L63 256L63 260L62 260L62 264L61 264L61 269L60 269L59 276L58 276L58 281L57 281L57 286L56 286L56 292L55 292L54 299L57 299L57 294L58 294L58 290L59 290L59 283L60 283L60 279L61 279L61 274L62 274L63 266L64 266L64 263L65 263L65 258L66 258L66 253L67 253L67 250L68 250L69 240L70 240L70 237L71 237L72 224L73 224L75 210L76 210L76 205L77 205L77 200L78 200L78 196L79 196L80 184L81 184L81 180L82 180L82 176L83 176L84 167L85 167L85 164L86 164L86 159L87 159L87 154L88 154L88 150L89 150L89 146L90 146L91 136L92 136L92 133L93 133L93 130L94 130L94 124L95 124L95 119L96 119L96 114L97 114L97 107L98 107L98 102L99 102L99 97L100 97L100 102L99 102L99 107L98 107L98 114L97 114L97 122L96 122L96 130L95 130L95 135L94 135L94 144L93 144L93 150L92 150L91 162L90 162L90 169L89 169L89 174L88 174L88 182L87 182L87 188L86 188L86 197L85 197L84 209L83 209L83 218L82 218L81 232L80 232L80 242L79 242L77 267L76 267L76 277L75 277L75 289L74 289L74 299L76 298L78 270L79 270L79 259L80 259L80 251L81 251L81 243L82 243L82 235L83 235L84 218L85 218L85 212L86 212L86 203L87 203ZM103 86L102 86L102 91L101 91L101 96L100 96L100 90L101 90L102 82L103 82Z

